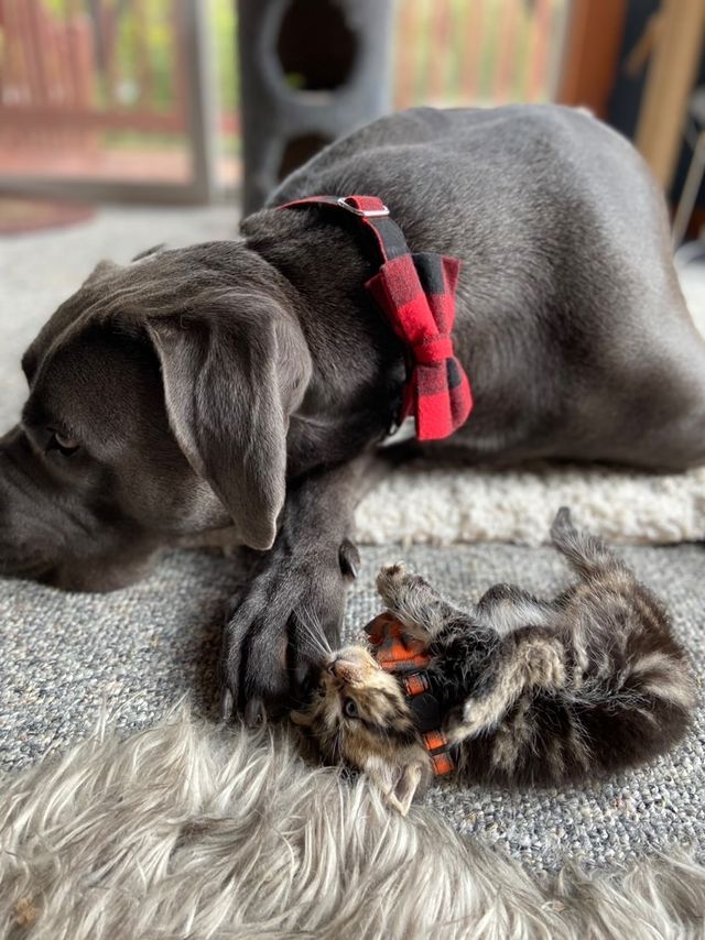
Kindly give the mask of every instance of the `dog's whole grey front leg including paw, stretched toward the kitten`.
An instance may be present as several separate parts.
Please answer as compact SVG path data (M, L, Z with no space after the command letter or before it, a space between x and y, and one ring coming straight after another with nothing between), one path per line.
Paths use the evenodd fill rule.
M223 717L257 723L285 704L326 640L339 638L346 589L357 575L357 503L383 473L366 453L294 481L274 546L230 604L221 649Z

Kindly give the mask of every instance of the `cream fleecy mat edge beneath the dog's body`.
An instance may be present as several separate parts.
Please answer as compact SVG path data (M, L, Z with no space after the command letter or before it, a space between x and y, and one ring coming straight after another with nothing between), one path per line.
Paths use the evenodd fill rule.
M655 476L604 467L527 470L415 467L395 471L358 509L358 540L546 542L562 505L610 542L705 537L705 468Z

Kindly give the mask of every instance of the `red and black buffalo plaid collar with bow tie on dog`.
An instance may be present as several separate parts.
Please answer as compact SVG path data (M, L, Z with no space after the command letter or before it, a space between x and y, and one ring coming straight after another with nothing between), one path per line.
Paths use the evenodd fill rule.
M381 265L365 286L406 351L398 426L413 417L419 440L448 437L473 408L470 383L455 357L452 337L460 262L430 252L412 254L377 196L308 196L280 208L312 205L351 214L373 236Z

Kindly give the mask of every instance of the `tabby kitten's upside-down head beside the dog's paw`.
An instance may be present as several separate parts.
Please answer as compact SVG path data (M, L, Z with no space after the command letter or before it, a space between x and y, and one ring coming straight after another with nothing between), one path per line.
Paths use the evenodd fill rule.
M397 679L362 646L340 649L322 664L311 702L292 719L308 730L326 759L365 770L404 816L432 776Z

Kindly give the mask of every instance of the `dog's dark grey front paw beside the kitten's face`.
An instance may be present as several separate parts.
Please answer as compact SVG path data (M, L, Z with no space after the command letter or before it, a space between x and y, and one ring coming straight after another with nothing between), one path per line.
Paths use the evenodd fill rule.
M248 724L291 706L312 664L338 642L359 556L347 539L297 556L274 547L230 605L223 635L223 718Z

